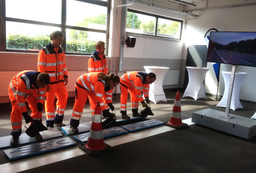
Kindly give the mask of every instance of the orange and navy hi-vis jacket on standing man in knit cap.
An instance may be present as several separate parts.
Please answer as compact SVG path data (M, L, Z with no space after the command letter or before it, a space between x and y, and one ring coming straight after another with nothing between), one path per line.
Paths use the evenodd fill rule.
M65 54L62 47L55 48L51 43L43 47L38 54L38 71L50 75L50 84L56 84L67 78Z

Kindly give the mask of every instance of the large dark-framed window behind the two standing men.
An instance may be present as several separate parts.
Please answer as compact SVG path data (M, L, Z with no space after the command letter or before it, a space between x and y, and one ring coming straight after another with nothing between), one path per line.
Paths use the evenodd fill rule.
M49 44L49 34L62 31L66 54L88 54L95 43L107 47L109 0L3 0L0 51L33 52ZM5 9L5 10L3 10ZM65 12L66 11L66 12ZM5 44L6 43L6 44Z

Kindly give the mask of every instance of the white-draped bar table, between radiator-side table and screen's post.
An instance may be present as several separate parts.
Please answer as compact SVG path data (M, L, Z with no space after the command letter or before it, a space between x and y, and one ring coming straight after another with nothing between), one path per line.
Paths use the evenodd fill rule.
M189 84L183 94L183 97L192 97L194 100L198 98L205 98L205 86L203 86L203 78L205 78L206 72L209 68L202 67L186 67L189 73Z

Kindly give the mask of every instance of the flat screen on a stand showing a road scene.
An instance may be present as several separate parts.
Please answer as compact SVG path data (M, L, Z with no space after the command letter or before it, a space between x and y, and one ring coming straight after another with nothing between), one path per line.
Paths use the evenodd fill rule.
M211 32L206 61L256 67L256 32Z

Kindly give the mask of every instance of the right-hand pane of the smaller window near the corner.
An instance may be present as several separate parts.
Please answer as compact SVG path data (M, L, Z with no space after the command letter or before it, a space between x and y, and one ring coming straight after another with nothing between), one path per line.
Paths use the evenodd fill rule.
M158 18L157 36L180 38L181 22Z

